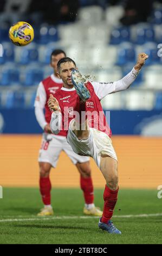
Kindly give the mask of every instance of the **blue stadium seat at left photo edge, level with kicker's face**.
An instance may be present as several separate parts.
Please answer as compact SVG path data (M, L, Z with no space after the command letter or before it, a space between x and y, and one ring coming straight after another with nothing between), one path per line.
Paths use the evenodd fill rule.
M20 72L15 68L4 69L1 75L1 86L20 84Z

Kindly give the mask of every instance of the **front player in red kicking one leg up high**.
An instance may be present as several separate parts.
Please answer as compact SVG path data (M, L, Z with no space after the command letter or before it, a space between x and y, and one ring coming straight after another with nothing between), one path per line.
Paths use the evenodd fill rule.
M63 87L55 97L51 94L48 100L48 106L53 110L50 121L51 131L58 133L62 129L67 129L67 142L74 152L93 157L106 180L103 214L99 220L99 228L108 233L121 234L111 221L119 191L118 161L110 138L111 129L106 123L100 100L108 94L129 88L147 58L146 53L140 53L137 64L119 81L86 84L76 70L74 60L63 58L57 63L58 75L63 81ZM68 97L69 102L63 102L64 97Z

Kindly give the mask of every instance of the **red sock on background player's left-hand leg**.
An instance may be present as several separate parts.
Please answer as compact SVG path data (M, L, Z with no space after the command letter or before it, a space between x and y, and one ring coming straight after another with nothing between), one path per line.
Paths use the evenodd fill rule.
M49 176L46 178L40 177L40 192L42 195L42 201L44 205L50 204L50 190L51 190L51 183Z

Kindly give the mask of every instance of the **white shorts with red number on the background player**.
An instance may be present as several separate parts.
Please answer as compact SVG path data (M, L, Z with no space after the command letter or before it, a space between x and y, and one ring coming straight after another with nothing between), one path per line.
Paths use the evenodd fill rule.
M89 157L74 153L72 147L67 143L66 137L43 133L38 162L48 162L51 166L56 167L61 151L64 151L74 164L89 161Z

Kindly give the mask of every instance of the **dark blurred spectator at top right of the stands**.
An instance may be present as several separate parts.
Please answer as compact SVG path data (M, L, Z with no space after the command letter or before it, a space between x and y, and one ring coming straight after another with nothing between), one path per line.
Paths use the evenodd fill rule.
M146 22L152 11L152 0L125 0L125 15L121 23L125 26Z

